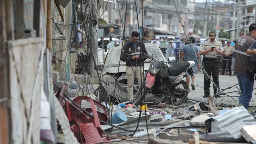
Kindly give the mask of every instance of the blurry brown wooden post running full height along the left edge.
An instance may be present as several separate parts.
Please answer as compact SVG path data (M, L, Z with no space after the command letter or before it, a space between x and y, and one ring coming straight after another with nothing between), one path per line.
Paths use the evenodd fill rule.
M11 143L9 136L11 125L8 123L10 120L9 110L7 108L6 98L9 99L9 70L8 70L8 53L6 50L6 21L5 21L5 1L0 0L0 143Z

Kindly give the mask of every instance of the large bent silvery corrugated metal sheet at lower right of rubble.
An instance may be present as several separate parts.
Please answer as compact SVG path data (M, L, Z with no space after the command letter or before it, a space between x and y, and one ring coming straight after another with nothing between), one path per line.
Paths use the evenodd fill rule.
M245 125L255 125L256 121L242 107L235 107L211 120L211 132L208 133L208 141L235 142L244 140L240 130Z

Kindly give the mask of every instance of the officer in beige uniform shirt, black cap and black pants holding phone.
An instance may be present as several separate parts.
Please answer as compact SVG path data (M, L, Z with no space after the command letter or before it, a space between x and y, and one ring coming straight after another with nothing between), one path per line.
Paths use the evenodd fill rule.
M219 84L219 59L217 56L223 55L223 47L222 43L215 39L216 34L215 32L209 33L209 39L204 41L202 44L202 51L201 54L204 54L203 63L204 69L206 70L207 74L211 77L213 82L220 86ZM210 95L210 84L211 80L204 77L204 96L209 97ZM217 88L214 87L214 94L217 93Z

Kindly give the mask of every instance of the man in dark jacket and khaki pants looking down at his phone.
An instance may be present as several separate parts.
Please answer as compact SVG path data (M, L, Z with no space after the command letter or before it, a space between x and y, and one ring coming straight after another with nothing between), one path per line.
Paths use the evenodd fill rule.
M139 41L139 32L133 31L130 40L123 46L121 52L121 61L126 62L127 92L129 101L133 101L133 84L136 75L139 86L143 80L143 61L147 57L142 54L148 54L143 42Z

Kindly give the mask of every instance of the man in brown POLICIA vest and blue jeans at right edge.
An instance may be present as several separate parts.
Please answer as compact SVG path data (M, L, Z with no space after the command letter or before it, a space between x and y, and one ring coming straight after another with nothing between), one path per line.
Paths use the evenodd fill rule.
M254 73L250 72L250 60L251 55L256 52L256 46L253 46L255 39L256 23L253 23L249 26L249 33L238 38L235 45L234 74L237 76L241 90L239 104L242 104L246 109L251 101L254 85Z

